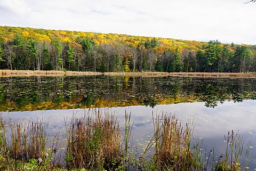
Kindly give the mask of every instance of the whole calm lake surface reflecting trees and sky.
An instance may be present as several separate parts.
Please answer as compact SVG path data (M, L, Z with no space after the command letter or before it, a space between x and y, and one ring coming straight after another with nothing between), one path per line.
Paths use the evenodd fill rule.
M49 121L49 134L65 135L65 119L88 107L115 112L124 123L131 112L133 144L143 147L154 134L152 112L194 119L195 142L214 155L225 154L225 138L234 130L251 142L250 169L256 168L256 79L134 76L61 76L0 78L0 107L6 120ZM108 108L105 108L108 107Z

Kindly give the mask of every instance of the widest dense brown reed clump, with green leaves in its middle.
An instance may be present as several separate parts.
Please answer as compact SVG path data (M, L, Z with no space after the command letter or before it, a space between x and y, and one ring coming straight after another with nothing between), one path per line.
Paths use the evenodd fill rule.
M67 168L114 170L121 162L121 133L109 111L89 110L67 124Z

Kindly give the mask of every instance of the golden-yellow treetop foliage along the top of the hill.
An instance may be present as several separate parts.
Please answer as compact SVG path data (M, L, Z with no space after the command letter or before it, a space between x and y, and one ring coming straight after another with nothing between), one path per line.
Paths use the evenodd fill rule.
M33 28L20 28L20 27L3 27L0 26L1 37L5 42L13 38L13 35L18 32L22 37L32 37L41 42L51 42L54 37L59 37L61 42L75 42L76 37L89 37L94 40L97 45L101 43L111 44L118 46L132 46L137 47L140 42L151 41L153 37L141 37L131 35L119 35L119 34L100 34L93 32L81 32L81 31L65 31L65 30L44 30ZM202 48L204 42L179 40L172 38L156 38L159 42L159 47L155 48L158 53L163 53L164 50L179 48L179 50L188 49L197 51L198 48ZM141 47L141 50L142 47Z

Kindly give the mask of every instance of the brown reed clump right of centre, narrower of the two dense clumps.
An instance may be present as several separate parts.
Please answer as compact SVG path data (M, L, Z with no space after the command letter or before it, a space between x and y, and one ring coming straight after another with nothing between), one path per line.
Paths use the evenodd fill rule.
M160 117L161 116L161 117ZM155 127L156 168L159 170L197 170L198 163L191 150L193 129L190 123L185 126L175 118L175 115L157 115Z

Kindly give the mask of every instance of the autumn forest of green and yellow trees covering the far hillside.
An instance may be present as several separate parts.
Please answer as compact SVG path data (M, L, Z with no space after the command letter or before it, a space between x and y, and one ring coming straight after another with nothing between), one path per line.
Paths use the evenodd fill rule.
M0 69L255 72L256 45L0 26Z

